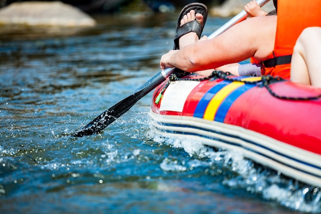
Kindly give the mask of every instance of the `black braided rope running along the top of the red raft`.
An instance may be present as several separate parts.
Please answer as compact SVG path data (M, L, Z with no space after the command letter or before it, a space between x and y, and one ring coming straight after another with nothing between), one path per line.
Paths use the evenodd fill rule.
M167 87L174 81L205 81L205 80L210 80L210 79L223 79L223 80L227 80L227 81L231 81L231 82L241 82L241 83L245 83L245 84L262 85L263 87L265 87L269 91L269 93L272 96L274 96L275 98L278 98L278 99L282 99L282 100L305 101L305 100L315 100L315 99L321 98L321 94L316 95L316 96L307 96L307 97L291 97L291 96L283 96L283 95L276 94L271 89L270 84L280 82L280 81L286 81L285 79L282 79L279 76L266 75L266 76L261 76L261 80L258 80L258 81L244 81L244 80L237 80L237 79L233 78L233 77L235 77L235 75L231 74L228 71L224 72L224 71L214 70L209 76L205 76L205 77L198 78L198 79L181 78L182 76L187 75L187 74L188 74L188 72L184 72L184 71L172 73L169 77L169 81L166 83L164 88L159 92L155 103L156 104L159 103L159 100L160 100L160 98L162 98Z

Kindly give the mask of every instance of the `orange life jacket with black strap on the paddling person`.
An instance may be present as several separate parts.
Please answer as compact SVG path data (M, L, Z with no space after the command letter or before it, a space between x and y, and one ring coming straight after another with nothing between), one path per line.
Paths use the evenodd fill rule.
M263 62L262 75L290 78L293 47L307 27L321 27L321 0L278 0L274 50Z

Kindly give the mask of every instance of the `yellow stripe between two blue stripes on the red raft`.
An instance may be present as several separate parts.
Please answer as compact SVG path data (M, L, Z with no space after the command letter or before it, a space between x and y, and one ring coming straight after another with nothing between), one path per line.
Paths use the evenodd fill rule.
M250 81L255 82L261 80L261 77L246 77L242 79L242 81ZM245 83L242 82L232 82L229 85L225 86L224 88L220 89L212 98L212 100L209 102L203 118L205 120L214 120L214 116L216 114L216 111L220 104L223 102L223 100L235 89L239 88L240 86L243 86Z

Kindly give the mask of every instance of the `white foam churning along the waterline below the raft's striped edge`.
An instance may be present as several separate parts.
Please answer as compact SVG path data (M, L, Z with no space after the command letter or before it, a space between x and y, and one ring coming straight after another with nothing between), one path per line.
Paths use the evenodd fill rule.
M266 200L277 201L292 210L309 213L321 213L321 190L289 178L279 172L256 166L236 151L214 151L187 138L167 138L157 131L149 133L153 141L168 144L174 148L183 148L190 157L195 157L199 165L218 165L220 168L235 172L232 178L225 178L224 185L231 188L245 188L247 191L260 194ZM208 163L198 159L207 158ZM185 171L191 163L180 163L165 158L160 168L165 171Z

